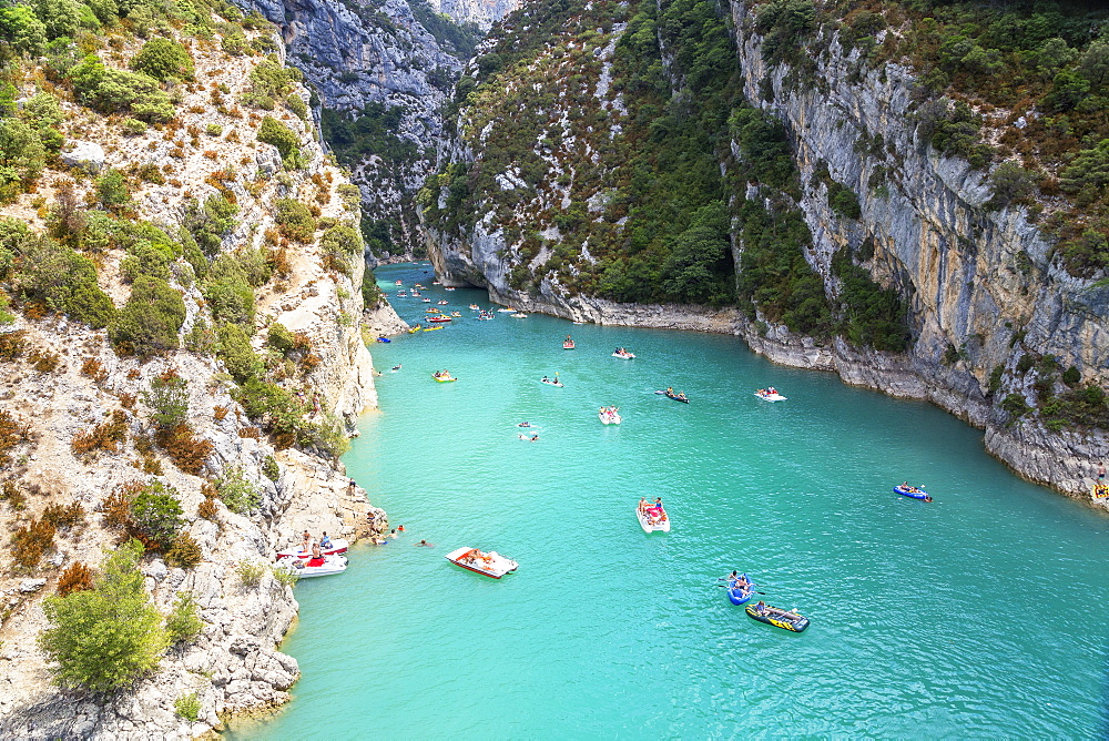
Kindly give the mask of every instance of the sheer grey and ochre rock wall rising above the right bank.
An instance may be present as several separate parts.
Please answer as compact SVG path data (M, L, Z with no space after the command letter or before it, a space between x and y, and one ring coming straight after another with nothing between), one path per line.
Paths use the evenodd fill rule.
M1051 434L1035 420L1010 426L994 400L1016 392L1035 404L1031 378L1016 369L1025 349L1105 382L1109 291L1062 270L1024 209L987 207L991 191L984 173L920 141L910 70L896 63L872 69L837 37L815 57L811 75L769 65L752 3L731 9L745 95L781 118L795 145L804 183L798 205L814 241L811 264L835 290L832 255L869 240L873 257L864 266L910 301L915 343L907 357L840 341L830 365L848 383L926 398L985 427L987 448L1019 474L1088 498L1096 461L1109 451L1105 438ZM875 151L868 143L877 135L884 146ZM830 209L826 186L813 179L817 163L857 194L859 219L841 219ZM871 185L878 169L884 187ZM954 362L950 348L958 351ZM788 353L762 352L788 362ZM1005 374L991 395L996 366Z

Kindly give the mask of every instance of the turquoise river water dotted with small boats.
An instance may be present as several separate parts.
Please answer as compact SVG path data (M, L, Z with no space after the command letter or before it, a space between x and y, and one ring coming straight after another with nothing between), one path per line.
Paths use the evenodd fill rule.
M1109 733L1109 521L1009 474L980 432L733 337L477 322L484 292L428 270L377 275L464 318L374 345L381 412L346 458L407 534L296 587L294 701L236 737ZM393 303L409 321L429 306ZM564 388L538 383L556 370ZM788 400L752 396L769 384ZM525 419L538 441L518 439ZM905 479L935 501L894 495ZM663 498L670 534L639 528L641 495ZM444 559L459 546L520 568L462 571ZM730 605L714 585L733 568L808 631Z

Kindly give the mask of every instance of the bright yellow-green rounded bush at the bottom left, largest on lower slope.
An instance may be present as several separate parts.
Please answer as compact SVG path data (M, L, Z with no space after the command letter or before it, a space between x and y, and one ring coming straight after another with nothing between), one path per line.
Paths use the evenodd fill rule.
M169 639L143 589L142 552L136 540L109 551L93 589L43 601L51 625L39 646L60 684L109 693L157 668Z

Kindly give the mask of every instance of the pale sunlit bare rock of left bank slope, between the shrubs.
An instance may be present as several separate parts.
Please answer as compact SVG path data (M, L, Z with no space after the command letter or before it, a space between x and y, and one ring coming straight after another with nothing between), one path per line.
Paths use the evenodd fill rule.
M307 124L288 112L274 114L299 138L305 160L302 169L276 172L282 169L276 149L256 141L261 116L244 116L237 109L216 111L208 104L208 85L213 90L222 85L237 100L260 58L228 58L218 51L218 43L214 49L197 44L192 51L197 75L203 75L205 84L184 92L179 124L182 130L197 132L215 125L222 128L220 138L201 144L197 133L192 143L184 136L175 142L175 130L170 129L164 138L162 131L150 130L124 140L116 124L88 119L94 123L87 125L85 113L69 105L71 121L81 122L80 133L89 140L84 150L99 145L100 166L133 172L154 163L166 165L165 172L181 179L141 184L133 194L132 215L176 233L190 197L230 194L240 209L238 226L225 235L225 252L258 248L274 238L277 230L271 207L282 197L315 203L322 219L356 224L357 213L350 212L340 194L345 181L336 168L326 164ZM307 98L303 89L299 93ZM169 165L166 150L171 146L175 149ZM244 166L224 170L227 162ZM35 211L32 197L52 195L67 181L65 172L47 172L38 194L21 196L2 210L3 215L18 215L41 229L39 216L44 211ZM84 179L77 187L78 197L83 197L93 183ZM347 273L325 267L318 240L316 233L309 243L291 246L285 277L258 288L260 332L254 347L263 351L264 327L273 322L304 335L319 361L301 386L311 397L306 399L306 418L323 420L334 414L352 424L376 404L372 358L359 334L364 265L355 260ZM111 248L98 256L101 283L118 302L126 295L119 275L122 257L121 250ZM186 305L182 336L199 318L212 322L206 302L186 274L176 272L171 283ZM103 332L49 316L20 316L3 332L6 342L20 336L24 349L6 357L0 397L7 399L4 412L28 430L8 450L11 457L6 458L10 465L4 481L11 491L23 491L27 501L18 507L6 488L0 522L10 532L48 505L77 504L84 515L79 524L59 530L39 567L16 568L4 559L8 570L0 578L0 734L26 739L192 738L220 728L221 714L285 702L299 670L277 646L296 616L297 603L292 588L272 576L274 551L292 545L304 529L356 538L365 530L365 491L349 490L342 466L332 458L295 448L277 449L260 435L230 394L232 385L223 363L210 353L177 351L143 363L118 356ZM55 362L42 364L37 357ZM142 445L151 434L146 424L151 408L143 393L153 378L171 368L187 388L189 425L197 438L212 445L197 475L184 473L161 449ZM12 399L18 404L10 404ZM113 415L125 420L121 441L99 454L79 454L73 445L75 436L115 418ZM236 514L215 500L214 514L200 516L202 486L232 468L240 469L261 493L258 506ZM185 531L199 545L201 561L193 568L176 568L161 556L146 557L142 565L146 589L163 613L179 595L191 592L200 606L203 631L195 643L164 656L157 672L140 679L129 691L109 699L62 692L51 686L48 660L35 642L45 627L42 599L55 590L62 569L74 561L95 567L103 549L120 537L119 528L103 516L105 499L121 486L152 480L177 493ZM384 512L379 515L384 524ZM245 577L243 564L253 565L258 579ZM193 693L200 704L195 722L175 710L179 699Z

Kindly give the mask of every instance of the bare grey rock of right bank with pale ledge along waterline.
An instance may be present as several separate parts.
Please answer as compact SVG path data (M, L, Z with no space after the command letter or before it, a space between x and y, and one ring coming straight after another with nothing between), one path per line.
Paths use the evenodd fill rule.
M754 323L740 313L694 306L617 304L567 290L550 275L527 288L513 287L513 267L522 262L535 270L550 257L546 248L525 254L520 232L533 230L556 243L559 238L547 211L559 197L552 181L561 173L580 176L579 163L589 156L597 162L590 151L582 155L567 152L567 146L559 152L537 142L535 154L550 162L550 175L536 186L537 197L517 206L508 220L491 194L462 236L444 233L441 220L428 224L428 251L440 277L447 284L487 286L498 301L579 321L742 335L752 348L777 362L836 372L847 383L896 396L929 399L986 428L988 449L1022 476L1089 499L1097 460L1109 455L1103 436L1055 434L1036 418L1014 422L999 402L1016 394L1036 404L1038 376L1020 364L1026 353L1054 356L1062 368L1074 366L1083 380L1106 380L1109 290L1067 274L1052 261L1050 245L1027 212L987 207L991 192L985 174L963 160L938 155L922 141L910 69L897 63L868 67L832 32L811 69L767 64L752 6L742 0L730 6L744 94L783 121L788 132L802 183L795 204L813 235L805 258L823 278L830 298L841 291L832 257L845 247L876 282L895 288L908 302L914 341L908 353L858 348L842 338L817 343L765 321L761 313ZM614 29L613 39L621 30ZM592 57L602 65L578 71L596 108L608 112L594 125L612 139L620 135L627 112L609 89L606 52L611 53L611 47L598 40ZM486 153L476 151L475 143L484 148L487 136L496 136L494 123L477 135L481 121L479 112L462 111L461 135L445 149L450 162L481 164ZM735 144L732 154L744 156ZM814 176L817 172L821 176ZM497 182L510 191L519 174L505 171ZM830 207L827 179L857 196L856 219ZM597 190L596 199L601 200L603 187ZM747 186L746 197L751 193ZM434 195L434 205L446 209L449 189ZM563 201L562 209L568 205ZM598 205L594 209L590 200L596 219L603 210ZM529 210L548 216L532 216L527 223ZM735 240L733 248L739 264L745 245ZM1056 390L1065 390L1058 379L1052 383Z

